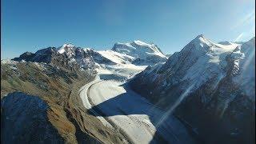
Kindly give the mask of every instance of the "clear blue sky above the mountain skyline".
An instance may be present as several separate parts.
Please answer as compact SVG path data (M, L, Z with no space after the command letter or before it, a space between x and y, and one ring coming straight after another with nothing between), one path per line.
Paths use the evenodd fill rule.
M137 39L173 54L198 34L214 42L255 35L255 0L1 2L2 58L64 43L106 50Z

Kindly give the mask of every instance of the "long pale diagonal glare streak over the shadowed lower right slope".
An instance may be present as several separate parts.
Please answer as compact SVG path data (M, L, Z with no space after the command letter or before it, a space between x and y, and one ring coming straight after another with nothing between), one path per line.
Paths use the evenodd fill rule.
M160 126L162 124L162 122L164 122L166 120L166 118L168 118L168 116L170 114L172 114L172 112L175 110L175 108L182 102L182 100L187 96L187 94L190 93L190 90L192 90L192 88L194 87L194 84L191 85L189 88L186 89L186 91L178 98L178 100L174 103L174 106L171 106L169 110L166 111L165 114L163 114L162 118L159 119L156 127Z

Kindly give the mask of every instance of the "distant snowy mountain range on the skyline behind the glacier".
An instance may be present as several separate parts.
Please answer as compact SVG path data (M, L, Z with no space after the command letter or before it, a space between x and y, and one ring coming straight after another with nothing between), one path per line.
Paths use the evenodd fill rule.
M58 48L48 47L38 50L35 54L26 52L14 61L21 62L66 62L69 66L78 65L82 69L94 68L95 64L119 64L133 63L140 65L152 65L157 62L166 62L167 58L154 44L146 44L141 41L130 43L116 43L111 50L93 50L90 48L76 47L64 44Z

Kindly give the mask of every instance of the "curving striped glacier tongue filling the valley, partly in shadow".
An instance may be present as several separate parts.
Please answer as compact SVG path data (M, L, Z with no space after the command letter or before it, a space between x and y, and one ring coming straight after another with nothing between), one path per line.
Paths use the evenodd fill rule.
M178 118L152 105L113 74L107 80L106 74L104 78L99 74L81 88L80 97L86 109L106 126L118 129L127 142L194 142Z

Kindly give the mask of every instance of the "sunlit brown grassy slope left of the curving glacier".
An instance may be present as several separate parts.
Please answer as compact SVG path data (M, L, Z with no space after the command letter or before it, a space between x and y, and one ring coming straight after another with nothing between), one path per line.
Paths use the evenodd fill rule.
M45 100L49 121L66 143L122 143L118 130L103 126L82 106L78 90L93 78L84 71L34 62L1 64L1 98L20 91Z

